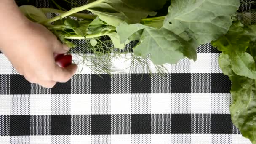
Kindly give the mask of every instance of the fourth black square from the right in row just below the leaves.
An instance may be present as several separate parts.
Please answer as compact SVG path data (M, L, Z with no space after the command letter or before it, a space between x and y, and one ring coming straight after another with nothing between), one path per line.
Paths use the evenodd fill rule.
M91 94L110 94L111 76L109 74L91 75Z

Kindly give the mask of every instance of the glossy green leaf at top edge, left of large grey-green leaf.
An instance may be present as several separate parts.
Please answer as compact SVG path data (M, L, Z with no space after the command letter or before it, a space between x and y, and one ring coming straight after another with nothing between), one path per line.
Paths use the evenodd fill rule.
M163 7L167 0L93 0L88 11L99 16L102 21L117 27L123 21L136 24L156 10ZM95 4L94 4L95 3Z

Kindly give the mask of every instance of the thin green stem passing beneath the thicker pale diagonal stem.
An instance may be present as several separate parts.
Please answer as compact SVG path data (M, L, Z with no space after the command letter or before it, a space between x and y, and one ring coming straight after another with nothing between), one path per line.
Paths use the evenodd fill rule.
M66 11L61 11L61 10L57 10L57 9L53 9L53 8L41 8L41 10L43 11L43 13L57 13L57 14L63 14ZM96 15L92 15L92 14L85 14L85 13L74 13L70 16L74 16L77 18L84 18L84 19L95 19L97 16Z

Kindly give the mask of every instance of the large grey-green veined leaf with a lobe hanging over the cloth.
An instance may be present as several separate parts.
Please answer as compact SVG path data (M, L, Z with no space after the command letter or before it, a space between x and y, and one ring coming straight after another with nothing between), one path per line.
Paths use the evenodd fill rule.
M227 33L239 5L240 0L171 0L163 27L146 27L134 54L150 54L154 64L175 64L184 57L195 61L200 44Z

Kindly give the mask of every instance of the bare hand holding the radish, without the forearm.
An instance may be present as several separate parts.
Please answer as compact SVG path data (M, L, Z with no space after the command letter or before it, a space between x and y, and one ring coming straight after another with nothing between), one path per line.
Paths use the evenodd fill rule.
M5 38L2 51L14 68L31 83L52 88L56 82L65 83L75 74L77 65L59 67L54 59L69 48L40 24L27 22L14 35Z

